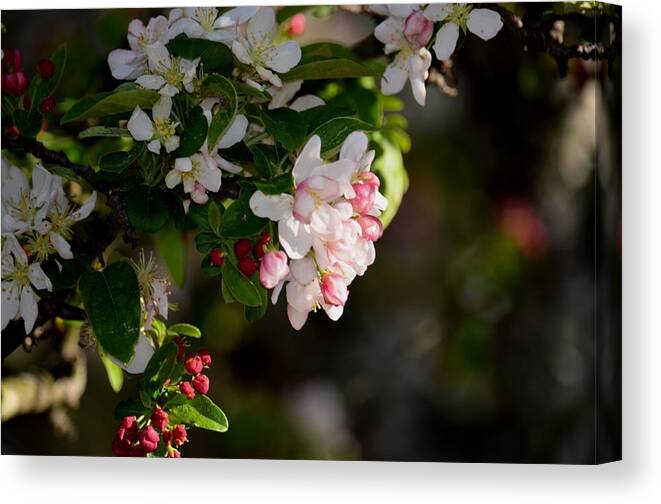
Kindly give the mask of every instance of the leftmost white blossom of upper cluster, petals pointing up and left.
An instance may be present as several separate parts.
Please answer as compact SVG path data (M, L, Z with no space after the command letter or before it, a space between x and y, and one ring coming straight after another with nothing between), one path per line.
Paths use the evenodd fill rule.
M158 16L145 26L139 19L134 19L129 23L127 38L131 49L115 49L108 55L108 66L115 79L134 80L147 71L145 47L168 42L168 20Z

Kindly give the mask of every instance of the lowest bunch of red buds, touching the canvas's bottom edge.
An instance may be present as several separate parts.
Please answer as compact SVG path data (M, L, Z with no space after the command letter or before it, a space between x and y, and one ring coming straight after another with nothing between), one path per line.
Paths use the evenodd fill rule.
M115 432L112 452L118 457L146 457L153 454L159 442L163 442L165 457L180 458L179 448L188 441L186 426L176 424L169 427L165 410L156 406L150 418L127 416Z

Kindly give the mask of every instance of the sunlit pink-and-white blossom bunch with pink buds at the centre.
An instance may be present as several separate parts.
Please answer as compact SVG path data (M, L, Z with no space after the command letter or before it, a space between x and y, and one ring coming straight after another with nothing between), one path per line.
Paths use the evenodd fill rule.
M374 262L374 242L383 231L378 217L387 201L370 171L374 151L367 146L367 135L354 132L344 141L339 159L327 163L321 158L320 138L312 136L294 164L293 194L256 191L250 198L255 215L278 222L286 256L267 254L260 280L273 287L274 303L286 286L287 313L295 329L319 307L337 320L349 284Z

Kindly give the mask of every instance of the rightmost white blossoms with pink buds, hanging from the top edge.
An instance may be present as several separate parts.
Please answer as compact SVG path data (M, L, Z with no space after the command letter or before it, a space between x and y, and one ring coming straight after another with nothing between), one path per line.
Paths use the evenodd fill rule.
M452 56L460 30L489 40L503 27L497 12L467 4L374 5L371 10L386 16L374 29L374 36L384 44L386 54L395 54L381 79L381 91L386 95L397 94L408 80L420 105L425 104L427 94L425 81L432 63L429 46L434 37L434 23L440 27L433 50L441 61Z

